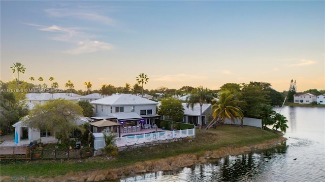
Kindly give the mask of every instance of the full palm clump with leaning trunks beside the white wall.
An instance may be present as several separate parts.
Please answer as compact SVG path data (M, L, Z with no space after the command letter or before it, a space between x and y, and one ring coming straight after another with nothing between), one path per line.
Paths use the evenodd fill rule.
M216 126L219 121L225 121L226 118L235 121L239 118L241 120L241 127L243 127L243 111L238 107L240 101L236 97L236 94L226 90L218 96L219 101L212 106L212 116L213 120L209 123L206 129L209 129L211 126Z

